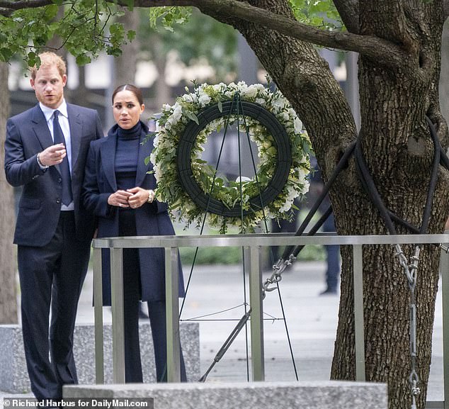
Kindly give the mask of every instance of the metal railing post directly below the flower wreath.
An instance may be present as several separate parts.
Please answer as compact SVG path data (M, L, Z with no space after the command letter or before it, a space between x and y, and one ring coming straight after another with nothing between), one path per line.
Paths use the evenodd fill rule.
M259 263L260 246L250 247L249 303L251 306L251 365L253 381L265 380L263 356L262 271Z

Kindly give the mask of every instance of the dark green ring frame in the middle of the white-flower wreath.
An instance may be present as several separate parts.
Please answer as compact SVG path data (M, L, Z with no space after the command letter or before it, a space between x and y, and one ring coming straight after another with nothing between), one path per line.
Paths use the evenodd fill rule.
M292 165L292 152L285 128L273 113L263 108L263 106L250 101L239 101L238 103L224 101L221 105L221 109L217 103L208 106L198 113L198 124L195 121L190 121L186 125L177 147L176 164L178 177L186 194L204 211L215 213L222 217L239 218L242 214L247 215L260 210L278 197L288 180ZM249 116L264 125L268 132L271 133L277 150L277 160L273 177L260 194L249 199L250 208L243 211L239 204L229 208L221 201L205 193L195 180L191 167L191 151L198 133L208 123L215 121L215 119L233 114Z

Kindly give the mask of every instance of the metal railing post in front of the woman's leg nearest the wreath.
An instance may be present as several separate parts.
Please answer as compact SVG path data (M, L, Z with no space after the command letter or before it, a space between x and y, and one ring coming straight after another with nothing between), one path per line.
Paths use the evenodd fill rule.
M178 247L167 247L165 249L165 286L168 382L181 382L178 266Z

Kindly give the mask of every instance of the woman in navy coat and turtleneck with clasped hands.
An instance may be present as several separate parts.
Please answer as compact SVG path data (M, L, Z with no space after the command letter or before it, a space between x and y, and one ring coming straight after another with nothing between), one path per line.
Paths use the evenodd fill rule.
M98 217L97 237L174 235L166 203L154 198L156 179L145 157L153 143L140 121L144 111L142 91L127 84L113 92L116 124L108 136L91 143L86 164L83 201ZM110 305L108 250L103 250L103 303ZM157 381L166 381L165 263L163 249L123 251L123 301L125 321L125 380L142 382L139 347L139 302L147 301L152 327ZM184 296L182 272L179 296ZM181 381L186 370L181 353Z

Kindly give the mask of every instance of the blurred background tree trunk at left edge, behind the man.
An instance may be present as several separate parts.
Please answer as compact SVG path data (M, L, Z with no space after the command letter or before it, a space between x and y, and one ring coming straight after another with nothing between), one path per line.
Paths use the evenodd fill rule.
M0 324L17 323L16 257L13 247L14 195L4 172L6 119L9 116L8 65L0 62Z

